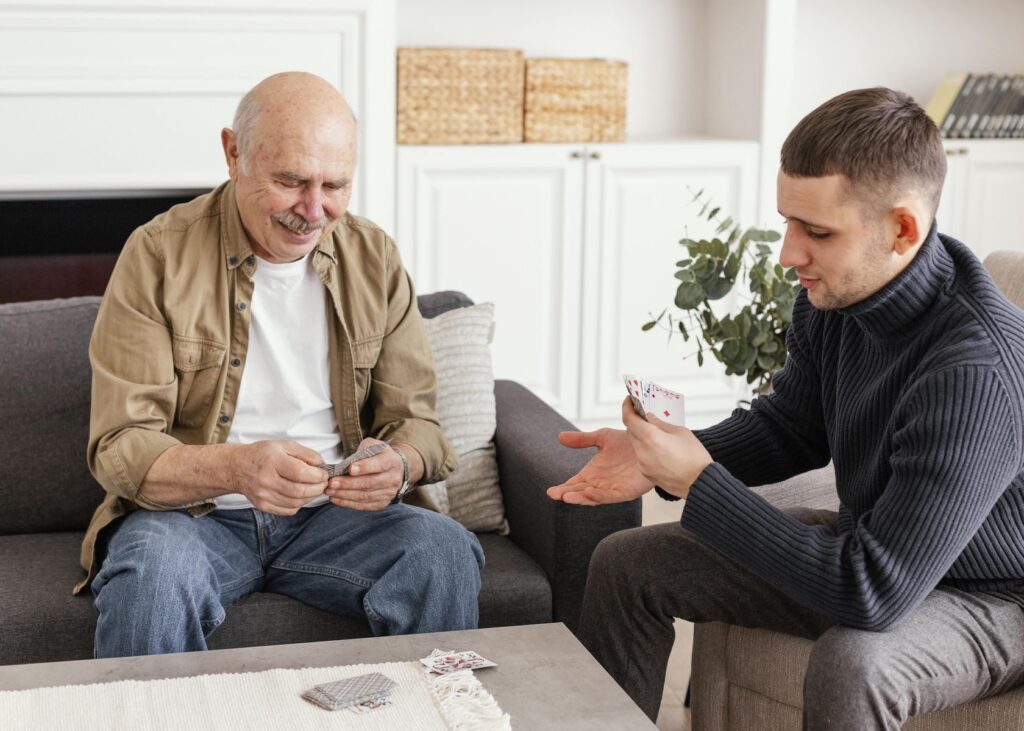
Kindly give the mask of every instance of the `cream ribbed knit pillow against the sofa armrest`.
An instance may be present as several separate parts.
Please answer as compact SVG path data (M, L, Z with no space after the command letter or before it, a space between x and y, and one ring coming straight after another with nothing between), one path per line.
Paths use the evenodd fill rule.
M443 482L422 485L438 510L470 530L508 532L495 451L495 306L460 307L424 320L437 372L437 419L459 454Z

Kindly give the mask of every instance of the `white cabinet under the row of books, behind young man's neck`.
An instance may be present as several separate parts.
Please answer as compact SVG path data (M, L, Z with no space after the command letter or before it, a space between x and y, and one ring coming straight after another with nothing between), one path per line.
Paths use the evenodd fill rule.
M1024 140L946 140L939 230L984 258L1024 251Z

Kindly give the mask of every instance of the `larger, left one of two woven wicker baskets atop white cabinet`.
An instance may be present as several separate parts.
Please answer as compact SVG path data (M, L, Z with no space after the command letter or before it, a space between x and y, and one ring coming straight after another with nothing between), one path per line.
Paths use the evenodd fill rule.
M522 141L519 50L398 49L398 143Z

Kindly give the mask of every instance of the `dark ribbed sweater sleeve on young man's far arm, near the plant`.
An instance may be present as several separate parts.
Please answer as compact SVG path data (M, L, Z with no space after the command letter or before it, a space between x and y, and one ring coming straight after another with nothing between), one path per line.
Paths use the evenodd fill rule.
M802 294L786 334L788 356L772 379L772 392L694 432L712 459L744 484L778 482L828 464L821 379L800 335L811 309Z

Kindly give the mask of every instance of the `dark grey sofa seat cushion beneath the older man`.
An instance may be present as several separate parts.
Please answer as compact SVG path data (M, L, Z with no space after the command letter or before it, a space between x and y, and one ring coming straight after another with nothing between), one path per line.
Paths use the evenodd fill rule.
M544 571L509 539L480 535L486 557L480 626L551 621ZM0 663L92 657L92 595L71 593L82 577L82 533L0 535ZM339 640L370 635L361 619L330 614L276 594L257 593L227 611L211 648Z

